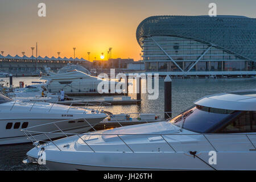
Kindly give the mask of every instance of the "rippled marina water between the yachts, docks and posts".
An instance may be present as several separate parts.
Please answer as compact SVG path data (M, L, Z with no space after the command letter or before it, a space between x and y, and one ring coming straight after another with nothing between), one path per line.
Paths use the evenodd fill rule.
M13 78L15 86L19 81L31 84L31 81L40 81L35 77ZM9 78L3 78L9 82ZM142 82L142 86L145 83ZM159 98L147 100L147 94L142 94L142 104L106 106L104 110L113 114L119 113L163 113L164 110L164 82L159 80ZM226 78L226 79L174 79L172 80L172 111L173 116L193 105L193 101L209 94L228 92L233 90L255 89L256 78ZM115 96L122 97L122 96ZM132 98L135 96L131 95ZM100 96L85 96L82 98L96 99ZM161 114L159 114L161 115ZM22 164L26 152L32 148L32 144L19 144L14 146L0 146L0 170L35 170L36 166ZM46 170L41 167L40 169Z

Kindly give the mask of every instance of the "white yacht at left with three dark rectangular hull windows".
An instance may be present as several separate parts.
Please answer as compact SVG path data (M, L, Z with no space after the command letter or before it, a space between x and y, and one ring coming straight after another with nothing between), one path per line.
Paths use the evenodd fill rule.
M49 104L47 102L13 101L0 94L0 145L27 143L27 136L21 129L38 126L46 123L69 119L67 122L49 126L40 126L38 129L45 132L62 129L65 132L84 133L102 119L105 113L98 110L81 109L78 107ZM36 134L31 134L34 137ZM60 135L40 135L41 139L63 137Z

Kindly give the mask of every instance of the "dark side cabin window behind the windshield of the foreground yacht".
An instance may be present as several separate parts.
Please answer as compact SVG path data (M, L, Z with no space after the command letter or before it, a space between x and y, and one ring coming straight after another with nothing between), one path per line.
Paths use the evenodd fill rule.
M256 132L256 111L243 111L217 133Z

